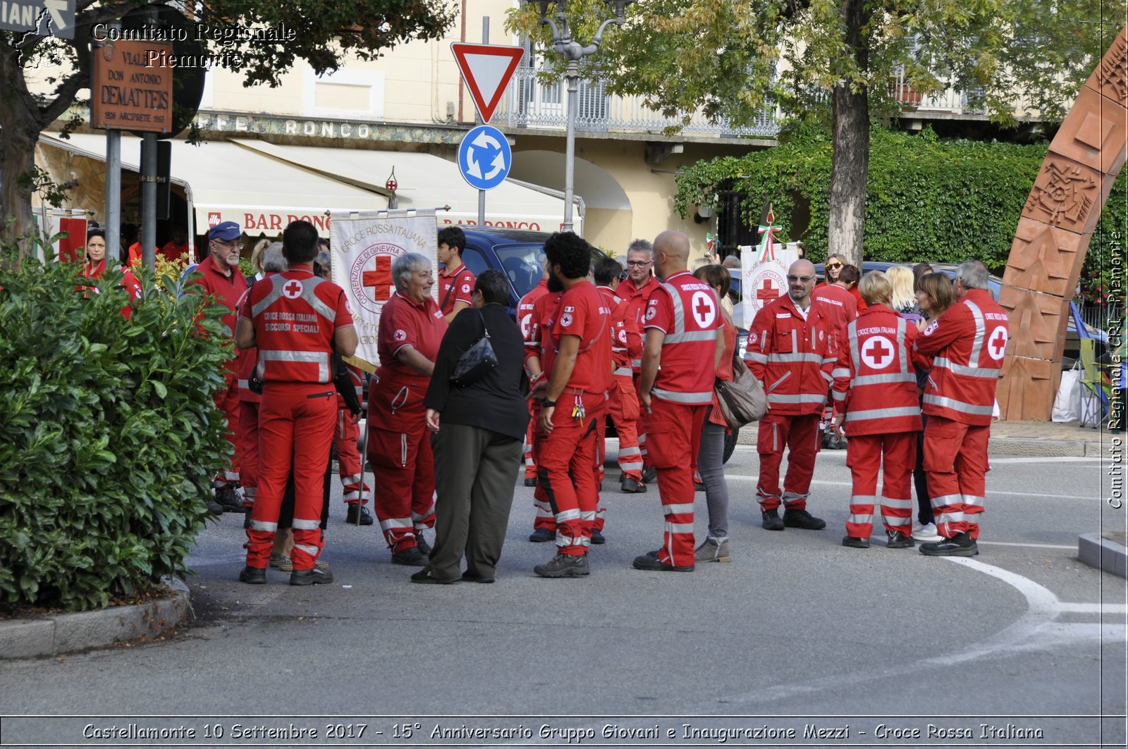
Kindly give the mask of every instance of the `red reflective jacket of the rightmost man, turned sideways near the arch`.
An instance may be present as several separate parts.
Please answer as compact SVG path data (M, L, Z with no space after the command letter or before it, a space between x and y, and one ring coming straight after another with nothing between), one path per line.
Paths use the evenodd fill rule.
M917 336L918 353L934 356L924 413L963 424L990 424L995 386L1010 335L1006 312L990 292L971 289Z

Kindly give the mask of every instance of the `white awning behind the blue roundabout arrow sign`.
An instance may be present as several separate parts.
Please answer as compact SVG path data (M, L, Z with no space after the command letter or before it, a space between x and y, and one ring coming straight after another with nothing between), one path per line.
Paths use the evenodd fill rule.
M413 151L371 151L365 149L277 146L266 141L230 139L247 149L273 157L326 177L386 192L385 183L396 170L396 196L400 209L434 209L450 205L435 213L439 226L444 223L476 224L478 191L466 184L453 161ZM520 158L520 153L513 157ZM582 206L582 201L576 200ZM381 204L380 208L385 208ZM564 199L556 191L506 179L486 191L487 226L532 231L558 231L564 218ZM582 209L573 211L575 231L582 233Z

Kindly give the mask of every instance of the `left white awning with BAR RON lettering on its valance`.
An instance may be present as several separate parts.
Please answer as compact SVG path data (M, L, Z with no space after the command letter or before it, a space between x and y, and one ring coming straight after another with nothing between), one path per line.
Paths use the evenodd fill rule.
M39 140L79 156L106 159L105 135L72 134L63 140L43 133ZM236 143L170 142L173 180L185 186L197 233L220 221L235 221L250 236L276 235L290 221L305 219L316 226L321 236L328 237L327 211L371 211L388 206L387 197L377 192ZM123 134L122 166L139 171L140 164L141 139ZM379 192L384 192L382 188Z

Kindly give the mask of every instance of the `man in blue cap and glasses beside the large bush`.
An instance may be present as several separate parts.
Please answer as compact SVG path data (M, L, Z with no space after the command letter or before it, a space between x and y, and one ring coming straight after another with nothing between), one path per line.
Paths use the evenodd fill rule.
M243 250L243 231L235 221L223 221L208 232L209 255L196 267L200 276L188 283L199 283L204 296L227 307L223 316L227 335L235 335L236 303L247 291L247 279L239 270L239 253ZM239 492L239 450L236 434L239 432L239 386L236 376L236 359L232 356L223 369L226 387L215 394L215 407L227 416L227 439L235 448L230 465L214 479L215 501L228 512L246 512Z

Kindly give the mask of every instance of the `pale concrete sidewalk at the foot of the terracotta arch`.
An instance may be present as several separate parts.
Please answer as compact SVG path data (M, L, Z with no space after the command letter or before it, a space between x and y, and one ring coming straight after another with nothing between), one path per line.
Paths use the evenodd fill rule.
M740 430L740 444L756 444L757 424ZM1007 422L990 425L990 455L1096 458L1108 455L1112 438L1107 429L1082 428L1078 422Z

